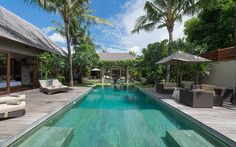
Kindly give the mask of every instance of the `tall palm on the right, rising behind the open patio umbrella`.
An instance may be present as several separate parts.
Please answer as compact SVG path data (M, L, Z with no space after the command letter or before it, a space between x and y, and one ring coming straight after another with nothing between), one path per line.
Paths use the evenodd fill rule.
M184 14L194 12L195 0L151 0L146 1L144 6L145 15L136 20L132 33L140 30L153 31L166 27L169 34L168 54L172 53L173 30L176 21L182 20ZM170 78L170 66L167 67L166 80Z

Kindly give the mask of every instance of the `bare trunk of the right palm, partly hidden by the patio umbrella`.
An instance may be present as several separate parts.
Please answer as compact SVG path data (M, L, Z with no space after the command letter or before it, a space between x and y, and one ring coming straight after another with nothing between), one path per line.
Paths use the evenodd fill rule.
M168 55L172 54L172 42L173 42L173 29L174 27L168 27L168 33L169 33L169 43L168 43ZM166 81L170 81L170 65L167 65L167 74L166 74Z

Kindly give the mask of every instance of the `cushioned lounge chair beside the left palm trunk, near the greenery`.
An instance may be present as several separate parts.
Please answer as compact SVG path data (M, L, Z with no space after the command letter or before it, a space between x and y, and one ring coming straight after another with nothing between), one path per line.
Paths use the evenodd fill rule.
M57 79L50 79L50 80L39 80L40 83L40 91L51 95L53 93L58 92L68 92L69 87L62 85L61 82Z

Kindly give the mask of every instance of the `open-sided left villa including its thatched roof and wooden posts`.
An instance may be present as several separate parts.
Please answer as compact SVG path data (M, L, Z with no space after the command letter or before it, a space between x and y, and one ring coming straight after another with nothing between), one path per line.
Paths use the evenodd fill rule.
M66 53L40 29L0 6L0 94L38 86L37 55Z

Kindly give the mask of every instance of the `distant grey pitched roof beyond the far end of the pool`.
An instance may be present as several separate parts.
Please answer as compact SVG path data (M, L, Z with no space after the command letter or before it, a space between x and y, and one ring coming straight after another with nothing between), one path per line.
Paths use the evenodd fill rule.
M123 61L123 60L134 60L135 57L129 53L108 53L101 52L98 54L102 61Z

